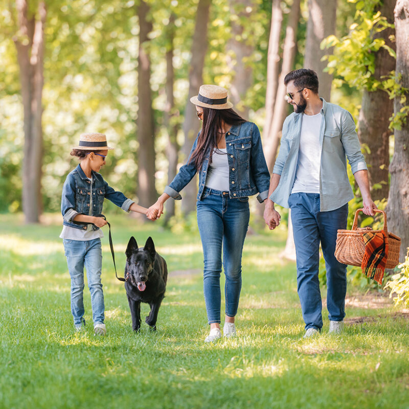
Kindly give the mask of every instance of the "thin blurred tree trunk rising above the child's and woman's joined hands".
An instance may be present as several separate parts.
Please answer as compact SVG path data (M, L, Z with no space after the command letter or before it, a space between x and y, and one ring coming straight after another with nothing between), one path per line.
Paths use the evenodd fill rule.
M174 26L175 16L172 13L169 19L168 29L167 29L167 41L168 47L166 51L166 107L164 124L168 130L168 145L166 147L166 156L169 161L168 167L168 185L171 183L176 175L177 171L177 153L179 150L177 144L177 123L172 123L172 118L175 115L175 102L173 94L173 83L174 83L174 69L173 69L173 39L174 39ZM169 223L169 219L175 214L175 200L167 200L165 203L165 225Z

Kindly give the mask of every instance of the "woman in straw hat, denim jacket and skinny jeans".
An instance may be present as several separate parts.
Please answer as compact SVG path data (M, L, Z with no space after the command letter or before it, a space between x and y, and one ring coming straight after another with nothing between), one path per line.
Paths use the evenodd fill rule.
M182 166L164 193L148 209L148 217L163 213L165 201L181 199L182 190L199 172L197 224L203 246L203 287L210 334L205 342L221 337L220 273L223 247L225 282L225 337L236 335L234 324L241 289L241 255L248 228L248 196L260 192L267 198L269 173L260 132L241 118L227 100L228 92L217 85L202 85L192 97L202 129L186 165Z

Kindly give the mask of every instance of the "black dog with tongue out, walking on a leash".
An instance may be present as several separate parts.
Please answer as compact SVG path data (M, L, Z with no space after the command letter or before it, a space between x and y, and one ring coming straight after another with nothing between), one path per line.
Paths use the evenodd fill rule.
M132 329L141 327L141 302L150 305L146 324L156 330L157 313L165 297L168 267L166 261L155 251L151 237L146 240L144 248L138 248L132 236L126 248L125 282L126 296L132 316Z

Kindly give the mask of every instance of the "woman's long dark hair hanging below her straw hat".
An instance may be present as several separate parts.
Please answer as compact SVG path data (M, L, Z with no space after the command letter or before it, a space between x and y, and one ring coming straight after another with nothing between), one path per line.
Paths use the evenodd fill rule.
M222 129L222 122L226 125L235 126L246 122L246 120L241 118L232 108L212 109L203 107L203 124L196 149L189 160L189 163L194 162L197 170L201 168L209 148L211 150L210 157L212 156L213 148L217 146L221 138L221 134L217 130Z

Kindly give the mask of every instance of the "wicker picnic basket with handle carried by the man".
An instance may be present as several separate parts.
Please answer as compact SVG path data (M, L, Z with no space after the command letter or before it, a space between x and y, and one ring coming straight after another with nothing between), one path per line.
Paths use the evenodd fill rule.
M358 228L358 213L361 211L362 209L358 209L355 212L352 230L338 230L335 257L340 263L360 266L365 252L362 235L368 232L380 232L370 227ZM383 210L374 211L383 214L383 231L388 236L389 249L386 268L394 268L399 263L400 237L388 232L387 214Z

